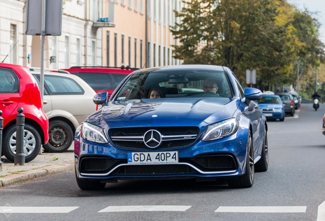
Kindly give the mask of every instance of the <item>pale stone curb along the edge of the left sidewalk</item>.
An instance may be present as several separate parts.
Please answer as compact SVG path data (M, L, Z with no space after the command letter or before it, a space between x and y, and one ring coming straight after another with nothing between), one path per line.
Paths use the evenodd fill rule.
M17 183L29 181L35 178L39 178L46 175L51 175L59 172L63 172L66 170L74 169L74 162L72 163L62 163L51 166L45 166L33 170L28 170L24 172L19 172L16 174L5 176L4 178L0 178L0 188L7 187L10 185L14 185Z

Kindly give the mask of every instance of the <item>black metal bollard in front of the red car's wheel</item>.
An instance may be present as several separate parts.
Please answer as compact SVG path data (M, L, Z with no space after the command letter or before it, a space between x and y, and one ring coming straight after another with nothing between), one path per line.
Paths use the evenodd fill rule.
M18 107L18 113L16 115L16 153L14 158L15 165L25 165L25 153L24 153L24 125L25 115L22 114L24 108Z

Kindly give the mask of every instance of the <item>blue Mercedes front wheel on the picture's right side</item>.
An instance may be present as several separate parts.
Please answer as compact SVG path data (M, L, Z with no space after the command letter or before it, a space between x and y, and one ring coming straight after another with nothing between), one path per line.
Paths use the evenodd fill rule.
M247 139L247 153L246 153L246 166L245 173L234 179L228 180L228 186L234 188L249 188L254 183L254 152L251 133L249 131Z

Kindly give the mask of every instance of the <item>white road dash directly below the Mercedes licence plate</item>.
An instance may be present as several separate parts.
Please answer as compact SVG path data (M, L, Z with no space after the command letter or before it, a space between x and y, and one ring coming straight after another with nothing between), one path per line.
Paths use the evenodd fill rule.
M99 212L186 211L191 206L109 206Z

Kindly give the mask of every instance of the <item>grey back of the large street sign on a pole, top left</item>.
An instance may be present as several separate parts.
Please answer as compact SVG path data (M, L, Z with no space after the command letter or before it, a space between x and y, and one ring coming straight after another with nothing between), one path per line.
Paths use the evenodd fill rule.
M45 13L43 35L60 36L62 29L62 0L45 0L45 12L42 12L40 0L27 0L26 34L42 34L42 13Z

